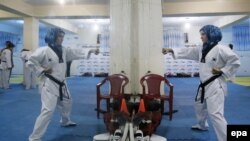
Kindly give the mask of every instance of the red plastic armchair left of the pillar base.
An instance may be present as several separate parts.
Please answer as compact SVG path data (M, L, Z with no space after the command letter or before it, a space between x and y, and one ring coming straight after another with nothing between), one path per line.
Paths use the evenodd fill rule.
M129 80L127 76L123 74L113 74L96 85L96 103L97 103L97 118L99 118L100 112L105 113L110 111L110 99L122 100L124 97L124 88L128 84ZM105 83L109 83L109 92L106 94L101 93L101 86ZM106 100L106 111L100 108L101 100Z

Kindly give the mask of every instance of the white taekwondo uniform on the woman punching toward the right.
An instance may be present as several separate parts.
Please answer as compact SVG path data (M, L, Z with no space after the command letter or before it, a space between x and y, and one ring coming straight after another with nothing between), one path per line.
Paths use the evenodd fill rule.
M88 58L88 53L82 48L62 47L62 50L63 63L59 63L59 58L50 47L37 49L27 62L27 65L32 68L38 76L41 76L39 86L42 101L41 113L36 119L34 130L29 137L29 141L41 141L56 106L61 114L61 124L66 125L68 122L71 122L69 115L72 107L72 99L65 80L66 62ZM63 100L59 98L59 85L43 74L45 68L52 69L51 76L60 82L64 82L65 85L62 87Z

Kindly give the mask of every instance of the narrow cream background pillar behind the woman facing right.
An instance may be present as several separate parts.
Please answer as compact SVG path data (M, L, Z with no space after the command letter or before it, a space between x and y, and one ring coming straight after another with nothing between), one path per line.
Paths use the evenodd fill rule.
M39 47L39 21L25 17L23 25L23 48L35 50Z

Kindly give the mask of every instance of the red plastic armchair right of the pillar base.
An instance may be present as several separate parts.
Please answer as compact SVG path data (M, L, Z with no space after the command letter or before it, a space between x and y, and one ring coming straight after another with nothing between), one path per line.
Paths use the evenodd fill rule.
M168 86L168 94L161 95L161 83L164 82ZM173 90L174 86L163 76L158 74L147 74L140 80L142 86L142 98L145 101L159 99L161 102L161 113L164 114L164 101L169 103L169 119L172 120L173 110ZM147 104L146 104L147 105ZM146 106L147 109L147 106Z

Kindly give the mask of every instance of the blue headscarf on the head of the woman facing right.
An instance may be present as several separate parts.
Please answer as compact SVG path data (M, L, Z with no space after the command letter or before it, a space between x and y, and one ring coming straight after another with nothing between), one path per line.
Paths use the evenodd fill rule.
M45 43L47 43L50 47L53 47L59 33L65 34L61 28L51 28L45 36Z

